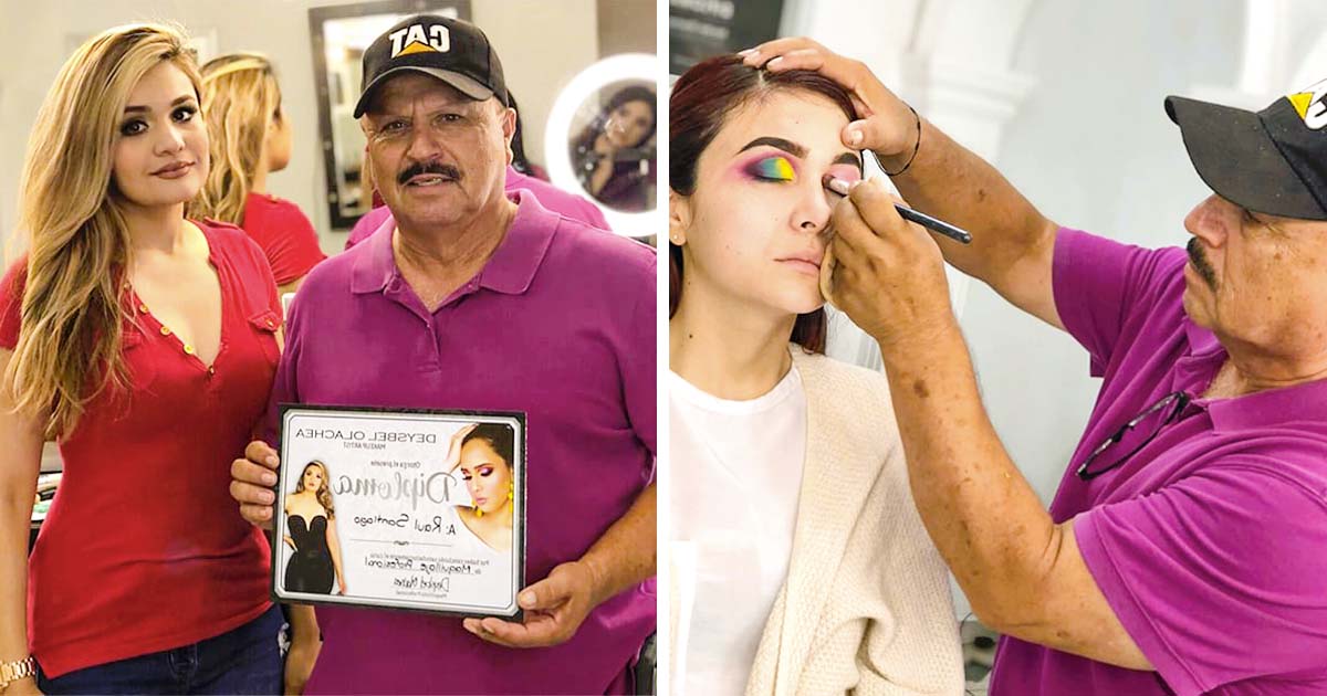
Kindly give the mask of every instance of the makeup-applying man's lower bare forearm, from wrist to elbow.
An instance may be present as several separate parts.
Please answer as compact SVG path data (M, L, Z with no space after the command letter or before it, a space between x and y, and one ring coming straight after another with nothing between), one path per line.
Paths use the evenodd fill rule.
M1019 622L1058 530L986 416L958 326L921 338L882 346L913 498L978 616Z

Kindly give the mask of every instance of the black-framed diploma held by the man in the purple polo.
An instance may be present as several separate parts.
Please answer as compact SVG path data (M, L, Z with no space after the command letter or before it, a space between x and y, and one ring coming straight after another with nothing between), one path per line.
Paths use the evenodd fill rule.
M272 595L516 619L525 415L281 407Z

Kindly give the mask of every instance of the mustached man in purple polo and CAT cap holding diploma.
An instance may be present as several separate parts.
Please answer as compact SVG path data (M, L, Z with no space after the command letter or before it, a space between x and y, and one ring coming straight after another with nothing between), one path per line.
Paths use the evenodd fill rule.
M654 630L656 255L503 192L515 111L474 25L402 20L362 84L395 229L304 281L232 494L269 524L279 403L524 411L532 585L523 623L320 607L308 689L630 693Z

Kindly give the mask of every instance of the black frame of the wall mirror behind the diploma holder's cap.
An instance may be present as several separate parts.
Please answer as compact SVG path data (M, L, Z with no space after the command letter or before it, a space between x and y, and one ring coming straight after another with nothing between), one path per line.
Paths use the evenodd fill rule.
M313 45L313 84L318 95L318 139L322 145L322 178L328 219L333 229L349 229L357 216L341 215L340 190L336 186L336 141L332 133L332 109L328 94L328 65L322 25L328 20L365 17L370 15L418 15L455 9L456 16L470 21L470 0L382 0L309 8L309 40Z

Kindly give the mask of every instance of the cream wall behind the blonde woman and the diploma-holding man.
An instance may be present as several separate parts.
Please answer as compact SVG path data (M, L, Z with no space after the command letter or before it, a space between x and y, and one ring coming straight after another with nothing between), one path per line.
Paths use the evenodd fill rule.
M344 233L330 233L324 204L322 154L314 102L308 9L340 4L317 0L0 0L0 239L13 224L28 133L69 37L153 19L174 20L194 33L216 33L219 52L261 50L277 66L284 105L295 125L291 166L272 176L275 195L309 215L326 252ZM553 98L580 69L598 58L594 0L471 0L472 20L503 58L519 95L525 151L543 160L543 130Z

